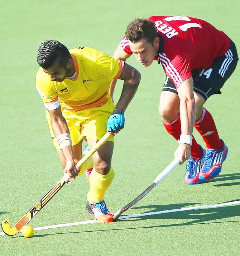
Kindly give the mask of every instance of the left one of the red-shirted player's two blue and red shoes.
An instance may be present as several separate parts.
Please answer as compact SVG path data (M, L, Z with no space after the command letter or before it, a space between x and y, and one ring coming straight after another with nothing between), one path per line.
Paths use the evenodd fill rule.
M187 185L201 184L204 181L204 180L200 180L198 176L203 165L203 158L205 156L206 150L204 150L201 146L200 148L202 150L202 156L197 160L194 160L194 158L191 156L187 161L186 172L185 172L186 174L185 183Z

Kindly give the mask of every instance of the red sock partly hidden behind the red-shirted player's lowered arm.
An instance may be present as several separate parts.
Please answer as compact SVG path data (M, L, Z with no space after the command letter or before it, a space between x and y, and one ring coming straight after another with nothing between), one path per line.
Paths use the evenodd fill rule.
M180 139L181 135L181 120L180 116L178 116L172 122L166 122L163 120L163 125L167 132L171 134L176 140ZM191 156L196 160L202 156L202 150L200 146L197 144L197 141L194 137L192 137L192 146L191 146Z

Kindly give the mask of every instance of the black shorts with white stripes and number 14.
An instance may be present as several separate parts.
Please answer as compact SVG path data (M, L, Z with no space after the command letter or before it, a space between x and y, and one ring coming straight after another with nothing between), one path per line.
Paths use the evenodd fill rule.
M220 89L231 76L238 61L237 50L230 39L230 48L225 55L213 60L208 69L193 69L193 90L200 94L205 101L213 94L221 94ZM162 91L177 93L177 89L171 79L166 77Z

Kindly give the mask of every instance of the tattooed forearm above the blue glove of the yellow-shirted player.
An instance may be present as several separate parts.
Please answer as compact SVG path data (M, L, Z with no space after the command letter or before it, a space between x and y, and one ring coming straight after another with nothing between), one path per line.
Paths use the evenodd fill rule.
M131 102L134 97L138 85L140 83L141 74L136 69L132 69L131 77L124 79L123 90L120 96L119 101L116 104L115 109L121 109L125 111L128 107L128 104Z

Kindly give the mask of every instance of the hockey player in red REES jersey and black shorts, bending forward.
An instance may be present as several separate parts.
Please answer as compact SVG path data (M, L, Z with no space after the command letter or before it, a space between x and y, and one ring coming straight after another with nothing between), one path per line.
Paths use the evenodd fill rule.
M128 25L114 57L126 61L132 54L146 67L157 60L167 75L159 113L167 132L179 142L174 156L181 163L188 160L185 182L200 184L216 177L229 149L203 104L221 93L235 70L238 56L234 42L201 19L152 16L136 18ZM113 80L111 98L114 87ZM205 141L206 150L192 136L193 127Z

